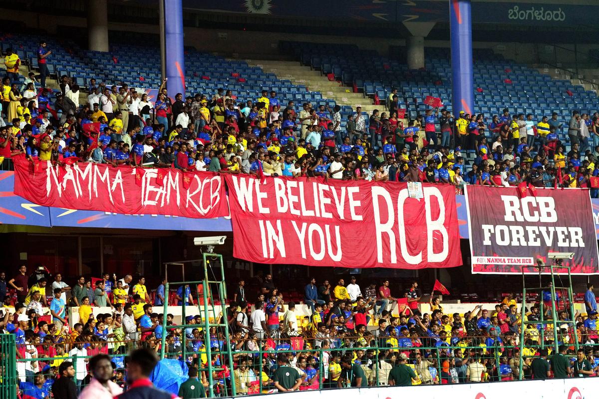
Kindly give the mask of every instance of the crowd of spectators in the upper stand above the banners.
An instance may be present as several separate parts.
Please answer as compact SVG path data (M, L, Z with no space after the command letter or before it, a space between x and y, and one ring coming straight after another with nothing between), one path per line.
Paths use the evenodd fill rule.
M43 61L47 51L40 47ZM599 196L599 114L467 114L429 108L398 118L396 90L371 115L356 107L342 127L340 106L295 104L262 90L254 99L231 90L184 98L166 80L149 100L126 83L60 77L60 92L34 74L17 87L10 49L2 81L0 156L24 154L55 163L175 167L258 176L324 176L456 185L589 187ZM49 54L50 55L50 54ZM43 65L43 64L40 64ZM12 67L12 68L11 68ZM45 78L45 77L43 77ZM80 101L81 91L89 93ZM174 94L174 96L173 96ZM568 144L565 138L568 137ZM566 147L566 146L571 147ZM565 151L565 148L570 148ZM472 154L472 156L467 156Z

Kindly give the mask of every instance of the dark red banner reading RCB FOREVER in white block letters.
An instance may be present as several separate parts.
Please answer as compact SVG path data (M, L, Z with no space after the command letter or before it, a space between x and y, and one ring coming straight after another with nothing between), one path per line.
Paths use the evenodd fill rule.
M571 273L599 272L588 190L468 185L466 201L473 273L536 274L549 252L572 252Z

